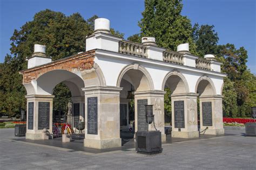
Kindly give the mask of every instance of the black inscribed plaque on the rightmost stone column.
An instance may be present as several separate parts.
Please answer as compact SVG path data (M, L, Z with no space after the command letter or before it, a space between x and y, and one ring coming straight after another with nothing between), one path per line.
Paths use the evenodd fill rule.
M212 102L202 102L203 126L212 126Z

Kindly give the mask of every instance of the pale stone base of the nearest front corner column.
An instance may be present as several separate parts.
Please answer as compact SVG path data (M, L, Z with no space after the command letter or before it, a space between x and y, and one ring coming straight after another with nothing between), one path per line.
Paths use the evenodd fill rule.
M112 147L121 147L122 139L113 138L113 139L84 139L84 147L104 149Z

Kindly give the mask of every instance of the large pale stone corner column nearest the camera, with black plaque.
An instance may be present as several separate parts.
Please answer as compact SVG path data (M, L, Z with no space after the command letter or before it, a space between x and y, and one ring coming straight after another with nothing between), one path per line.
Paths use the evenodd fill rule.
M122 88L91 86L85 92L84 146L111 148L122 146L119 97Z

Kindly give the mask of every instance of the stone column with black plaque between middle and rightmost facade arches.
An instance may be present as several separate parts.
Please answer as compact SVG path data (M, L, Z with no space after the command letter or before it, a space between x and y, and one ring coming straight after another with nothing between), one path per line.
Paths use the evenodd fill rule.
M172 138L199 137L197 125L197 94L173 94Z

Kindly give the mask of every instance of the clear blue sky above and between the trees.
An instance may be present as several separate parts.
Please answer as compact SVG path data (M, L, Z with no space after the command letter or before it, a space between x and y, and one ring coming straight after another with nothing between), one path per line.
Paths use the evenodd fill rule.
M256 74L256 3L254 0L184 0L182 15L192 24L214 25L219 44L232 43L248 51L248 67ZM50 9L69 16L79 12L85 19L98 15L110 19L111 27L125 33L125 38L138 33L142 18L142 0L0 0L0 62L10 53L14 29L33 19L36 12Z

